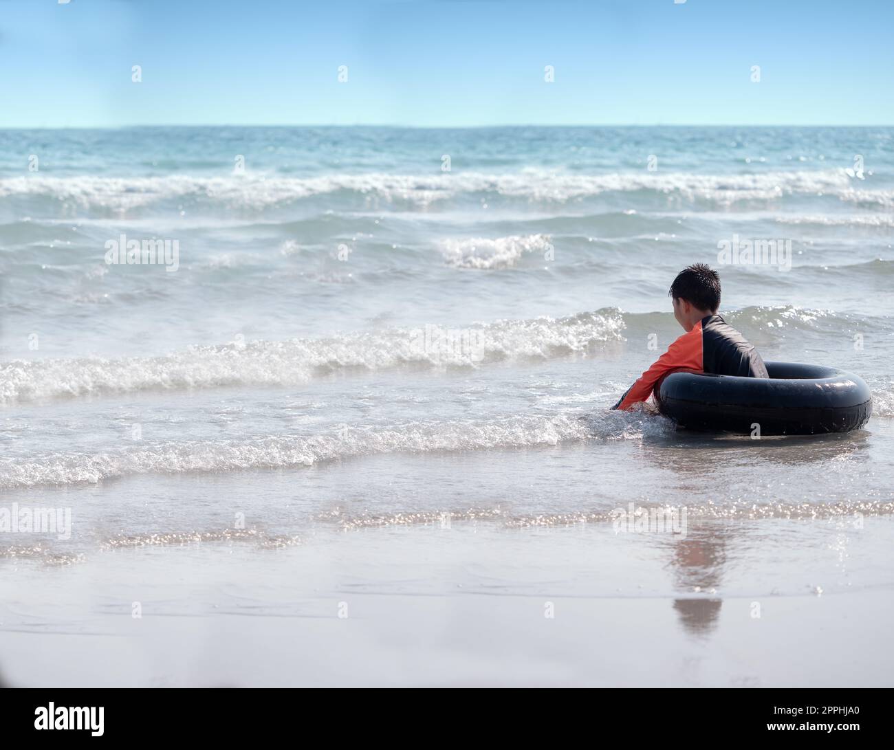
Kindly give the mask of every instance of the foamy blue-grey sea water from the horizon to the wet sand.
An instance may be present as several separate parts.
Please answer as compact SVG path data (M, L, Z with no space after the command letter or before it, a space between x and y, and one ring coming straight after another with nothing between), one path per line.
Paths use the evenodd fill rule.
M632 596L804 594L841 535L865 564L826 591L890 589L892 137L2 131L0 507L67 509L71 535L0 535L0 565L236 544L266 576L310 538L362 558L405 529L409 555L445 525L498 557L580 550L634 503L687 512L676 542L633 535L643 553L720 562ZM176 240L176 271L107 264L122 235ZM734 237L790 240L790 267L720 264ZM607 412L682 333L667 288L695 261L764 358L861 375L865 429L753 441ZM786 544L789 563L733 552Z

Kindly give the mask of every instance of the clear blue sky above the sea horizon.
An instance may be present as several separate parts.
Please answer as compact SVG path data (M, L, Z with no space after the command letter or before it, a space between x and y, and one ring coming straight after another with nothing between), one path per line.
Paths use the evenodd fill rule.
M891 29L890 0L0 0L0 127L894 124Z

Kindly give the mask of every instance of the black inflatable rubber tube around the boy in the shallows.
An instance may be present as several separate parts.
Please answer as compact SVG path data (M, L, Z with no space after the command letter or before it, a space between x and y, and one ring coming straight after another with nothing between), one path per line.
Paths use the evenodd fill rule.
M678 426L762 435L848 433L873 412L869 387L835 367L766 362L768 378L671 373L655 389Z

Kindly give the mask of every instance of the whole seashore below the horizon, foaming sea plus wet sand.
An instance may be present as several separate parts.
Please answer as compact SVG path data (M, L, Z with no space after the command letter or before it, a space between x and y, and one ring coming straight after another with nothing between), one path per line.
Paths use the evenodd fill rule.
M881 127L0 131L0 680L890 687L892 212ZM610 411L694 262L864 429Z

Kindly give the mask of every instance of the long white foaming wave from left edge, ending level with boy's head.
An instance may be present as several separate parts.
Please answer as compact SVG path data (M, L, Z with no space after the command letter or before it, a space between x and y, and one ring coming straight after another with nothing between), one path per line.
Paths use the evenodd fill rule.
M305 383L333 372L478 367L583 353L620 341L620 311L498 320L461 329L426 325L325 339L195 346L159 357L16 359L0 364L0 404L151 390Z

